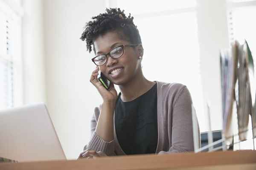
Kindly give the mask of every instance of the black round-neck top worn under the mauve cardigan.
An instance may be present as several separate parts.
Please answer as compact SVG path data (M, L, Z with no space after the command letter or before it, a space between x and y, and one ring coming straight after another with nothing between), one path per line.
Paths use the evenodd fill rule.
M115 108L116 136L127 154L155 153L157 148L157 83L130 102L118 95Z

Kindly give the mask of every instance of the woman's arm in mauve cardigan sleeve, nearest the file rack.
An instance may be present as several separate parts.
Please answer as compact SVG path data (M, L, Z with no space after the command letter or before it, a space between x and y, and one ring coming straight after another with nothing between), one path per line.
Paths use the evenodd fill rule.
M192 132L192 99L189 90L184 86L177 94L173 102L173 109L169 111L172 114L172 124L169 133L172 133L172 146L169 150L160 151L165 153L185 153L194 150L193 132Z

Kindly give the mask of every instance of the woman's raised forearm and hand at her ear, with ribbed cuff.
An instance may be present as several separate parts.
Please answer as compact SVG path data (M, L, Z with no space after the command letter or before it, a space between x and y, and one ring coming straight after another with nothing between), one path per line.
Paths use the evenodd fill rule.
M102 108L96 108L94 111L94 118L91 121L91 138L89 143L84 147L84 152L79 156L85 156L87 150L94 152L102 152L106 155L114 154L113 142L113 112L116 105L117 92L114 84L111 83L111 89L106 90L97 76L99 67L96 66L91 74L90 82L97 88L99 94L102 96ZM100 112L100 113L99 113ZM95 117L97 116L97 118ZM99 116L99 118L98 118Z

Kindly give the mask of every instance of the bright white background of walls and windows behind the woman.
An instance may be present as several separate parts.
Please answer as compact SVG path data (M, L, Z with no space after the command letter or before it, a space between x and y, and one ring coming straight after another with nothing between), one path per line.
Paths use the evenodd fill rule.
M246 39L255 55L256 0L0 0L0 109L45 102L67 159L76 159L102 102L89 82L94 54L79 38L109 7L134 17L145 77L186 85L200 131L207 103L212 130L221 130L219 51Z

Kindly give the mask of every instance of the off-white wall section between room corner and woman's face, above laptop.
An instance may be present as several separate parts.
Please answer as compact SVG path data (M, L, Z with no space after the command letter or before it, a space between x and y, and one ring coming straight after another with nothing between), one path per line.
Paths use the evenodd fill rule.
M105 0L44 1L47 106L68 159L89 141L88 118L102 102L89 82L93 54L79 38L90 17L104 10Z

